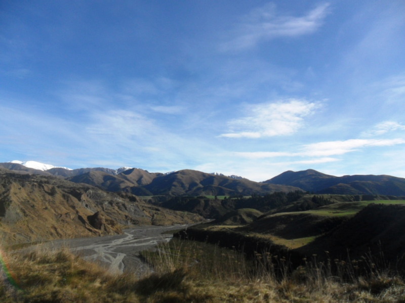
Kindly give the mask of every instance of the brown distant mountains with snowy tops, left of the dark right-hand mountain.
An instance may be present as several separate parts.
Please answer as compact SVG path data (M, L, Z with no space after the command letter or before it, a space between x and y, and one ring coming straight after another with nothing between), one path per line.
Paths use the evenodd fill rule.
M119 172L109 168L36 170L18 163L0 163L0 167L20 173L57 176L75 183L86 183L107 191L128 192L138 196L154 195L251 195L274 191L294 191L299 188L254 182L235 176L209 174L195 170L171 173L150 173L139 168Z

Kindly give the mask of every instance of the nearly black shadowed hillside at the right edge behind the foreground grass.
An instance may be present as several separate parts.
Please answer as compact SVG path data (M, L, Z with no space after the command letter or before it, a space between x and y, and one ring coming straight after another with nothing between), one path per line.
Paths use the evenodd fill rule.
M302 255L325 255L346 260L362 256L383 259L404 271L405 206L371 204L312 243L295 249Z

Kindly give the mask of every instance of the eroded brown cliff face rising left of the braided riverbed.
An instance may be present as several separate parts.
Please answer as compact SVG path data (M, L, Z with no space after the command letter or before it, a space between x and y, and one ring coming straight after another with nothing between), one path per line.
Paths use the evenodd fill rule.
M54 177L0 172L3 243L108 235L133 225L198 220L196 215L152 207L133 195L120 196Z

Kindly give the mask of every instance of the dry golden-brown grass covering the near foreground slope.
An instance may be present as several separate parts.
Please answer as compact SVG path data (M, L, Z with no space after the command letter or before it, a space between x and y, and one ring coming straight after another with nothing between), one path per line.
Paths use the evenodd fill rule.
M155 271L142 279L111 275L67 249L2 254L2 302L405 302L399 276L373 268L364 275L332 275L308 262L292 274L257 254L255 262L206 243L173 241L144 257ZM277 260L278 264L287 263ZM365 261L366 262L366 261ZM351 265L339 263L341 272ZM349 279L348 279L348 278Z

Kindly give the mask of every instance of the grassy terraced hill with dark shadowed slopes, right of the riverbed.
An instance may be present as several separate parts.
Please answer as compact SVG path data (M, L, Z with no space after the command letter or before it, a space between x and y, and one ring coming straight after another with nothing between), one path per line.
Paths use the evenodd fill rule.
M304 211L285 207L244 225L231 224L226 216L189 228L187 236L245 250L252 245L270 249L272 254L290 256L287 258L295 260L295 266L313 254L339 260L345 260L348 251L355 258L368 254L380 258L383 254L391 264L399 264L397 258L405 256L405 200L334 201ZM401 270L405 274L405 267Z

